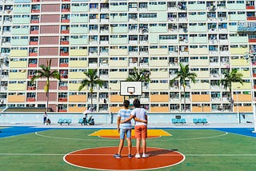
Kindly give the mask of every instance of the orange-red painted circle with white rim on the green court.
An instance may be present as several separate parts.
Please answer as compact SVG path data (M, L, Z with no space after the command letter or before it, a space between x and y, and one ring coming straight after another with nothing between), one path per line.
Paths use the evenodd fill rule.
M127 147L122 149L122 158L114 158L118 147L100 147L94 149L82 149L66 154L64 161L86 169L103 169L103 170L143 170L159 169L177 165L185 160L182 153L170 149L158 149L147 147L146 151L150 154L147 158L128 158ZM136 151L135 148L132 149Z

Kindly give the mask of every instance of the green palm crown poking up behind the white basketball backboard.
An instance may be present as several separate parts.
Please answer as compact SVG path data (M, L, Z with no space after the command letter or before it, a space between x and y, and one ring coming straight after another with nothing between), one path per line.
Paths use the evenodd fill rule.
M150 82L150 72L143 69L138 70L134 67L134 72L130 73L128 78L126 78L128 82Z

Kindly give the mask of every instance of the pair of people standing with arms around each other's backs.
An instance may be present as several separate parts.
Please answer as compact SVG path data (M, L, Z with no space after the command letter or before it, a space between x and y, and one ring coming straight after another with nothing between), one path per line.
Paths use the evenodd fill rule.
M128 157L131 155L131 119L134 119L135 126L134 132L136 137L136 158L140 158L140 148L142 141L142 157L149 157L146 154L146 138L147 138L147 112L146 109L141 108L140 101L134 99L135 109L129 109L130 101L124 101L124 109L120 109L118 112L118 132L120 133L120 143L118 147L118 153L114 155L115 158L121 158L122 147L124 143L124 137L128 143ZM125 111L125 112L124 112Z

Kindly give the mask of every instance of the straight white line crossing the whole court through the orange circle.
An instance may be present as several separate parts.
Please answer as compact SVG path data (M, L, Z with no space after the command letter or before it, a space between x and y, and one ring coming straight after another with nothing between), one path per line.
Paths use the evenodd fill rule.
M113 153L111 154L99 154L99 153L85 153L85 154L63 154L63 153L0 153L0 156L64 156L64 155L70 155L70 156L113 156ZM180 156L180 154L156 154L154 156ZM209 153L209 154L184 154L186 157L255 157L256 153Z

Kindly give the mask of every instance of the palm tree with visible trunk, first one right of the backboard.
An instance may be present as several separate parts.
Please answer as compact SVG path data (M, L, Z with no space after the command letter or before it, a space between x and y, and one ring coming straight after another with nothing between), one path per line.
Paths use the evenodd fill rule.
M176 77L170 80L170 85L174 85L175 80L179 79L184 91L184 111L186 112L186 80L191 80L194 83L195 78L198 75L195 73L190 73L189 65L183 66L182 63L179 63L179 66L180 70L178 70Z

